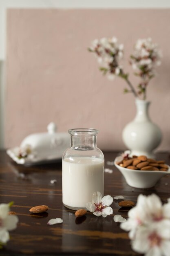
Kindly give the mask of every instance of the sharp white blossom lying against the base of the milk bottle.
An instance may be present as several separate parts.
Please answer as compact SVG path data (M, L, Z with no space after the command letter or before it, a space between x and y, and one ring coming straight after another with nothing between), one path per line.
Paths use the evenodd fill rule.
M104 218L108 215L113 214L113 209L109 207L113 203L113 198L110 195L105 195L102 198L100 192L93 193L92 202L86 203L88 211L93 212L95 216L103 216Z

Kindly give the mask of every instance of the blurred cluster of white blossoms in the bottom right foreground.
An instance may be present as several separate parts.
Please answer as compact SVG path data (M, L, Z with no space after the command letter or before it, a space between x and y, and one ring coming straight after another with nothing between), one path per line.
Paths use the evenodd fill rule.
M129 232L132 249L145 256L169 256L170 200L163 204L155 195L139 195L137 204L128 212L120 227Z

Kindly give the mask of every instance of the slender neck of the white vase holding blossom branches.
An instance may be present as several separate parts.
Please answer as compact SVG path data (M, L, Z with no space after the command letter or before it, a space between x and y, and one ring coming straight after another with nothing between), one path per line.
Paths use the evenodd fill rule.
M137 114L135 117L135 121L150 121L148 113L149 105L150 101L136 99Z

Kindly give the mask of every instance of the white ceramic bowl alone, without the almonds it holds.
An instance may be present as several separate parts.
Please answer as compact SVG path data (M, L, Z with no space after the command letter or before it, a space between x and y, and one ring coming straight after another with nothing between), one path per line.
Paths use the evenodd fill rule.
M119 162L119 157L115 158L115 166L124 175L128 185L138 189L151 188L161 177L170 173L170 166L168 166L168 171L140 171L121 167L116 162Z

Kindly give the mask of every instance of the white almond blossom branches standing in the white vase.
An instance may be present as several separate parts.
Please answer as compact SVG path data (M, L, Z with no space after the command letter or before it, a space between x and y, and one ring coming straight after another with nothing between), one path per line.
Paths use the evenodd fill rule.
M137 40L135 50L130 56L130 65L135 69L134 74L141 78L138 85L139 91L135 90L128 79L128 74L124 73L123 67L119 65L119 61L123 57L124 45L118 44L116 37L95 39L88 50L95 54L99 70L108 79L113 80L115 76L123 78L130 88L130 90L125 89L124 92L132 92L135 97L138 97L138 94L143 94L143 99L146 99L147 85L155 76L155 67L161 64L161 54L157 45L152 43L151 38Z

